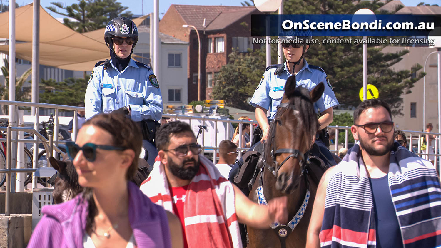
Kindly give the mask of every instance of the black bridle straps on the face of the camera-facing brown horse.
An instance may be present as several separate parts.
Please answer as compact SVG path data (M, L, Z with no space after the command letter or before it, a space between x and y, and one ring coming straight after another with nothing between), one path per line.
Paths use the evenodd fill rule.
M294 104L291 103L284 103L284 104L280 104L279 106L277 106L278 108L290 108L292 110L296 110L294 107ZM280 126L282 125L282 121L280 119L275 118L274 119L274 123L273 125L279 124ZM277 172L279 171L279 169L283 166L283 164L290 158L294 157L294 158L299 158L299 164L300 164L300 168L302 169L302 174L303 171L305 170L306 167L306 163L305 163L305 156L303 155L302 152L300 152L298 149L288 149L288 148L282 148L282 149L277 149L276 148L276 144L274 142L274 138L276 137L276 130L272 130L271 132L271 143L273 143L273 148L271 148L271 159L273 160L273 164L271 166L268 165L268 163L266 163L268 165L268 170L274 175L277 176ZM274 152L275 151L275 152ZM282 153L289 153L290 155L288 155L288 157L286 157L282 163L277 163L276 161L276 156L277 154L282 154Z

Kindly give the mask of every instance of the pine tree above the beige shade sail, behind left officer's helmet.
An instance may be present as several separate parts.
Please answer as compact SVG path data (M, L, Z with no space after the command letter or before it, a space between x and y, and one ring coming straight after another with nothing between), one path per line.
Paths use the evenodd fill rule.
M115 17L131 17L131 12L126 11L128 7L121 6L116 0L79 0L78 4L66 6L62 2L51 4L64 10L60 12L54 6L47 7L50 11L67 16L63 19L64 25L79 32L89 32L106 26ZM75 19L76 21L71 21Z

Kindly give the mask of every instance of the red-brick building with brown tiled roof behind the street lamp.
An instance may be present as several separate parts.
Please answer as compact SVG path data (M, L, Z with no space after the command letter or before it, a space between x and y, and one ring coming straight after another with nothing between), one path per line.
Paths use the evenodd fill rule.
M189 43L188 102L198 100L198 37L201 39L201 100L209 99L214 79L228 63L232 48L247 52L260 45L252 44L251 15L262 14L254 6L202 6L172 4L159 22L159 31ZM183 58L186 56L183 55Z

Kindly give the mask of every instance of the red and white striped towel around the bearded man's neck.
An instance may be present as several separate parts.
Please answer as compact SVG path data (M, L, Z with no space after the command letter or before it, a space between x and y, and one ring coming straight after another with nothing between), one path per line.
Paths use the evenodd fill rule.
M201 166L188 185L184 203L188 248L242 248L233 185L213 163L199 155ZM154 203L173 212L164 165L155 162L140 187Z

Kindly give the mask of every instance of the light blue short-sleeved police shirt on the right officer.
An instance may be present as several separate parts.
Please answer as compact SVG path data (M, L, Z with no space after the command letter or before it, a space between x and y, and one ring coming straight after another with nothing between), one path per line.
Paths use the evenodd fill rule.
M339 103L334 95L333 89L327 80L326 73L321 68L311 68L306 59L303 60L304 66L295 75L296 85L303 85L309 90L323 82L325 90L321 98L314 103L316 113L323 112L329 107L338 106ZM274 75L277 68L270 68L263 73L262 79L254 91L250 104L254 107L260 106L269 111L269 119L273 119L277 112L277 106L282 101L286 80L292 75L285 62L285 69L280 75Z

